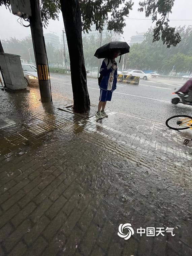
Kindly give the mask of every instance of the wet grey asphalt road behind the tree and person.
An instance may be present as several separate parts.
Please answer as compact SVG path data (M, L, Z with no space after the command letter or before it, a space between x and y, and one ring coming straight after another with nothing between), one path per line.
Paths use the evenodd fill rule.
M87 85L92 104L98 104L99 87L97 79L87 78ZM120 113L145 117L148 120L165 122L173 115L191 115L192 107L171 104L172 92L178 90L185 82L140 79L139 85L128 85L118 82L117 90L107 108ZM67 75L51 74L52 93L64 95L72 99L71 78Z

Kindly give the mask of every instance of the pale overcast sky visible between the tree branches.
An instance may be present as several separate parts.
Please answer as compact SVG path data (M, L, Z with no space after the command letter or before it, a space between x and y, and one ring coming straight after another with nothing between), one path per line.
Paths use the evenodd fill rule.
M129 18L132 19L145 19L145 20L126 20L126 27L124 28L124 37L130 40L132 35L137 32L146 32L152 25L151 20L145 18L144 13L137 11L139 0L134 1L133 10L130 12ZM172 14L169 15L170 20L192 20L191 15L192 1L191 0L175 0ZM18 17L6 10L5 7L0 7L0 38L6 39L10 37L23 38L31 34L30 28L25 28L17 22ZM192 25L192 21L170 21L171 26ZM44 33L50 31L56 32L59 36L62 34L63 28L62 15L59 16L59 21L50 20L47 29Z

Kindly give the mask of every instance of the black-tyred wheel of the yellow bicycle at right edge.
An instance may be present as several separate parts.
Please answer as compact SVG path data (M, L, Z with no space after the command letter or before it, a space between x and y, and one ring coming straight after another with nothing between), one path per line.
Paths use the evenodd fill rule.
M186 130L186 129L191 128L192 124L191 124L191 126L186 126L186 124L183 124L183 123L189 122L191 120L192 120L192 117L190 117L190 116L178 115L178 116L173 116L173 117L168 118L166 120L165 124L168 128L170 128L172 130Z

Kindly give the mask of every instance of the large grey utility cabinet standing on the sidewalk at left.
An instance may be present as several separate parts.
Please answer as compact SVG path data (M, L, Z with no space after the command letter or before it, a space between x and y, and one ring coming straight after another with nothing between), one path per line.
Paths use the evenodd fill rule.
M16 91L27 88L19 55L0 53L0 69L7 89Z

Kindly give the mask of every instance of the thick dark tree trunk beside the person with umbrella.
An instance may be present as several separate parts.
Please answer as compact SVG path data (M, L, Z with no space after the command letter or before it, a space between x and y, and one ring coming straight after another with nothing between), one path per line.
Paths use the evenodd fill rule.
M73 110L76 113L85 113L90 110L90 99L83 55L79 0L60 0L60 3L69 49Z

